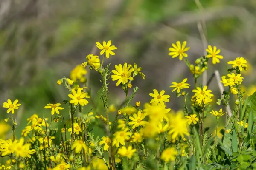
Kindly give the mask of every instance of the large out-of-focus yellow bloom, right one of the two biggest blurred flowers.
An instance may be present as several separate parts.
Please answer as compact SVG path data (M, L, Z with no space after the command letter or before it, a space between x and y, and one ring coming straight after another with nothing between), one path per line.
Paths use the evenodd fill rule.
M172 134L172 139L176 139L177 136L184 135L189 136L189 132L187 129L187 120L184 119L182 113L177 113L176 115L172 114L169 118L170 131L168 134Z

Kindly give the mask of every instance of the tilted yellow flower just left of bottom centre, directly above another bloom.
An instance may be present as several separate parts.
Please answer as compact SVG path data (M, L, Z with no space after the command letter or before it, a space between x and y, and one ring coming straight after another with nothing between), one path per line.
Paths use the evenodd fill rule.
M116 131L114 133L114 141L112 142L113 145L116 145L116 147L119 147L119 144L125 145L125 140L130 139L131 132L128 132L128 128L125 128L121 131Z

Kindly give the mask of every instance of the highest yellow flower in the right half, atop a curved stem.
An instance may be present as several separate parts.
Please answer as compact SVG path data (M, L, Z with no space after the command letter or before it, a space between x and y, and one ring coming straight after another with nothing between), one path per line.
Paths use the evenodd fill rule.
M188 51L189 47L186 47L186 41L182 43L182 47L180 41L177 41L176 44L172 43L172 47L169 48L169 51L171 51L169 53L169 56L172 56L172 58L179 56L179 59L181 61L183 57L188 57L188 54L184 52Z

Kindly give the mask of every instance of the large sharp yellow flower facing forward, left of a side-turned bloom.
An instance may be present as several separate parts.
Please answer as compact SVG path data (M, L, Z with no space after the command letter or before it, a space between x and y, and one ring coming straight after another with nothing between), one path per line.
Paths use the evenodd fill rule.
M131 72L134 71L133 68L131 68L131 65L128 65L127 67L127 63L125 62L124 66L122 66L121 64L119 64L118 66L115 65L116 70L112 70L113 75L111 75L111 78L113 81L116 81L116 86L120 85L120 83L122 82L122 84L124 85L125 83L128 82L129 80L133 80L133 77L131 77Z

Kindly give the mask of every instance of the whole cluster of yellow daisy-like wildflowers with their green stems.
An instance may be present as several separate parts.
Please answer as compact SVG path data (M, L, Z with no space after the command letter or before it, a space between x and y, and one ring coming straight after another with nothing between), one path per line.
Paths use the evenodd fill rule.
M10 169L11 167L20 164L20 169L24 167L29 168L31 164L44 165L47 170L93 170L93 169L116 169L116 163L121 161L123 166L140 166L137 161L145 161L148 154L155 154L156 159L161 164L161 160L165 162L165 166L172 163L181 157L188 157L192 155L191 148L195 147L190 139L190 127L198 128L200 137L204 134L204 112L205 107L212 102L212 91L207 86L201 86L197 83L197 78L208 68L208 59L212 58L212 63L219 63L219 59L223 59L223 56L219 55L220 50L216 46L208 46L207 56L203 56L195 61L195 65L189 63L186 59L188 54L185 52L189 50L186 47L186 41L181 45L180 41L176 44L172 44L169 48L171 51L169 55L172 58L179 57L180 60L184 60L189 67L189 70L195 78L195 89L192 90L194 95L191 99L192 111L189 112L186 106L186 97L189 92L185 89L190 88L190 84L187 83L187 78L181 82L172 82L169 86L172 92L177 90L176 95L184 97L184 111L175 111L167 108L170 95L165 94L166 91L157 91L153 89L153 93L149 93L153 99L141 106L140 101L131 105L131 100L136 94L138 88L134 88L131 96L128 96L128 89L132 88L132 81L134 77L140 75L145 79L145 74L141 72L142 68L134 65L124 63L115 65L111 72L109 65L103 66L105 57L108 59L110 55L115 55L113 50L116 50L115 45L111 45L111 41L96 42L96 46L101 50L99 56L89 54L86 57L86 62L81 65L77 65L70 73L70 78L64 77L57 81L58 85L64 84L70 94L69 99L65 100L63 104L67 104L67 110L70 113L70 119L64 119L64 114L60 113L64 107L61 107L60 103L47 104L44 108L51 109L49 115L51 118L41 118L37 114L32 115L27 119L28 123L22 130L19 140L15 139L15 128L17 125L16 119L13 114L15 109L18 109L21 104L18 104L18 100L13 103L10 99L3 103L3 107L7 108L7 113L12 111L12 134L13 138L8 140L0 140L0 156L10 156L9 164L11 166L5 167L2 165L0 169ZM185 58L183 58L185 57ZM242 82L240 71L247 70L247 61L243 58L236 58L234 61L228 62L232 64L231 71L235 73L228 74L230 77L226 79L226 76L222 77L222 83L224 86L229 86L229 90L233 94L239 94L241 98L241 89L239 85ZM89 70L98 71L102 76L102 89L99 92L100 99L102 100L105 108L105 116L99 113L98 106L95 105L89 88L85 87L87 78L86 67ZM108 83L107 80L112 78L116 82L116 86L121 86L126 94L125 102L116 107L115 105L108 106ZM81 85L81 86L80 86ZM89 95L90 94L90 95ZM88 113L84 113L83 108L92 106ZM118 109L117 109L118 108ZM90 110L90 109L87 109ZM74 114L78 112L78 116L74 117ZM55 115L55 113L57 115ZM113 121L109 120L109 113L116 113ZM223 116L226 112L222 109L219 111L210 112L216 116L217 121L220 116ZM119 119L122 116L122 119ZM199 117L199 118L198 118ZM8 122L6 119L5 122ZM63 123L64 128L61 130L52 129L53 122ZM197 126L197 123L199 125ZM217 122L218 123L218 122ZM0 122L0 127L2 122ZM247 128L247 123L240 121L239 125ZM94 126L102 127L105 130L105 135L95 138L93 134ZM218 125L217 125L218 126ZM69 132L69 134L67 134ZM3 136L0 131L0 137ZM60 143L57 143L56 134L60 133ZM26 138L29 138L26 140ZM189 142L188 142L189 140ZM154 148L154 144L157 144L157 148ZM189 148L188 148L189 146ZM30 149L30 148L33 149ZM195 148L193 148L195 149ZM153 151L150 151L153 150ZM108 162L105 159L104 152L108 152ZM36 153L36 154L34 154ZM145 158L139 158L144 156ZM141 159L141 160L140 160ZM14 160L14 161L12 161ZM25 161L24 161L25 160ZM11 163L12 162L12 163ZM54 163L54 164L53 164ZM123 167L123 169L127 168ZM166 168L167 169L167 168Z

